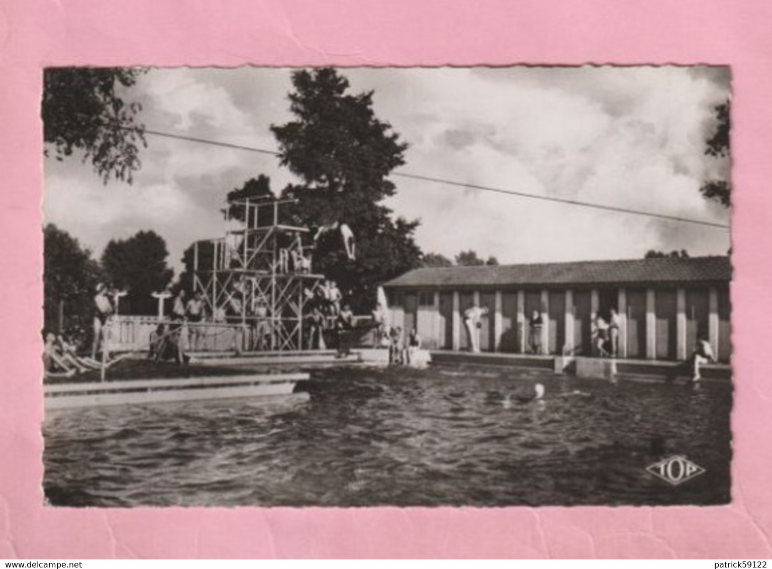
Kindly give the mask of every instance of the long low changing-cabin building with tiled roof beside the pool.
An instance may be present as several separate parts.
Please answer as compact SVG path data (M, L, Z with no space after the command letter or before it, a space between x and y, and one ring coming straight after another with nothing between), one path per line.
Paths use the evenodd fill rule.
M465 314L486 307L481 351L591 354L614 309L619 357L684 359L705 337L727 361L731 278L730 259L710 256L415 269L384 289L392 322L435 349L471 349Z

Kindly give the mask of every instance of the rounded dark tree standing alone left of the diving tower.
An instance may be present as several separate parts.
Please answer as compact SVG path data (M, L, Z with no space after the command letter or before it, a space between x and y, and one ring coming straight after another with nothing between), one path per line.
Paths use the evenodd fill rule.
M157 301L152 293L164 290L172 270L166 265L166 242L152 231L141 231L129 239L112 240L102 253L102 267L110 283L126 290L121 311L154 314Z

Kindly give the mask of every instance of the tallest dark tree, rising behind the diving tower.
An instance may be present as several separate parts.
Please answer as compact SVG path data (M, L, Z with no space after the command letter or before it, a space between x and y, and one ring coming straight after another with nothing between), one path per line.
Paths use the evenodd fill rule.
M378 284L420 263L413 238L418 222L394 219L382 204L394 195L388 175L404 164L407 144L375 116L373 92L350 93L335 69L296 71L292 81L289 108L295 120L271 130L281 164L301 183L288 185L282 195L297 202L289 208L293 223L350 226L357 259L348 260L334 240L320 242L314 270L335 279L355 308L367 310Z

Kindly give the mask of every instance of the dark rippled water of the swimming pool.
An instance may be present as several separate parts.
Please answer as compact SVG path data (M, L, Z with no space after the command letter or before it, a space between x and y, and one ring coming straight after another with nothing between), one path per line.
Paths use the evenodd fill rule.
M540 381L541 403L519 404ZM281 404L105 407L46 418L66 506L715 504L730 500L728 384L455 367L313 371ZM706 473L669 486L645 466Z

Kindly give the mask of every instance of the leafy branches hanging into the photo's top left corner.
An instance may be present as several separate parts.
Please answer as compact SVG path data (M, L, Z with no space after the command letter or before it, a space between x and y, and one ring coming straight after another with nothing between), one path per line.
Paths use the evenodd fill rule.
M105 183L132 180L147 144L137 120L140 103L125 99L141 69L49 68L43 73L42 120L46 154L58 160L76 150Z

